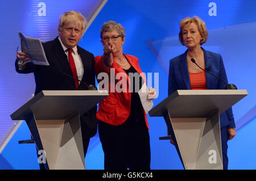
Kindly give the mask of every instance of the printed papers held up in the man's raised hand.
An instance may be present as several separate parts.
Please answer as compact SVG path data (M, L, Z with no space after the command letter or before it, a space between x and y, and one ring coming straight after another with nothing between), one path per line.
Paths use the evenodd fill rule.
M27 37L22 32L18 32L18 34L22 52L30 57L30 62L36 65L49 65L41 40Z

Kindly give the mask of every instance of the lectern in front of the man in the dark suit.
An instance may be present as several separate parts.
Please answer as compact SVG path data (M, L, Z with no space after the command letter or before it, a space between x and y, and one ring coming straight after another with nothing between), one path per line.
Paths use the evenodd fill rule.
M13 120L26 120L46 169L85 169L80 116L108 96L107 91L41 91L16 110Z

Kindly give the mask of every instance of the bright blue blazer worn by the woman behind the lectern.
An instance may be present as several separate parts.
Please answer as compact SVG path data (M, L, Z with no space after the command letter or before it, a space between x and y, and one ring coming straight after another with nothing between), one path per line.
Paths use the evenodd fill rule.
M202 48L203 49L203 48ZM205 49L204 51L204 60L205 67L209 70L210 73L217 75L225 82L228 82L226 77L226 71L220 54L209 52ZM208 90L217 90L224 89L225 83L219 79L213 77L212 75L206 73L207 89ZM180 56L172 58L170 60L170 69L169 69L169 80L168 80L168 95L171 95L172 92L176 90L190 90L190 79L188 73L188 63L187 63L187 51ZM232 108L229 108L226 112L220 115L220 126L235 128L234 116L232 113Z

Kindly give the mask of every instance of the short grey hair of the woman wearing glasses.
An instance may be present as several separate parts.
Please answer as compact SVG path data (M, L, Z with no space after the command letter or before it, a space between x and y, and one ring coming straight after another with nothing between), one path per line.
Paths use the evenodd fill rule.
M123 28L122 24L110 20L104 23L101 27L101 39L104 32L110 32L113 30L116 30L122 38L125 37L125 28Z

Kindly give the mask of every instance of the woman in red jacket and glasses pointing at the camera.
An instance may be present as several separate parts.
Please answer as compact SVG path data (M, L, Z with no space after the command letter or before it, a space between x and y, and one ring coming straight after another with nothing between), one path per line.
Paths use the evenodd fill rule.
M109 96L102 100L97 111L98 133L104 150L105 169L150 169L150 137L148 122L135 86L141 89L146 77L139 67L138 58L123 53L125 29L122 24L109 21L101 28L102 56L95 57L95 71L109 77L122 75L122 86L117 90L119 79L104 86ZM137 74L138 79L130 77ZM100 77L100 76L99 76ZM123 81L125 80L125 81ZM100 85L102 79L98 79ZM114 86L114 91L112 90ZM133 87L134 89L129 89ZM150 87L147 99L156 97Z

